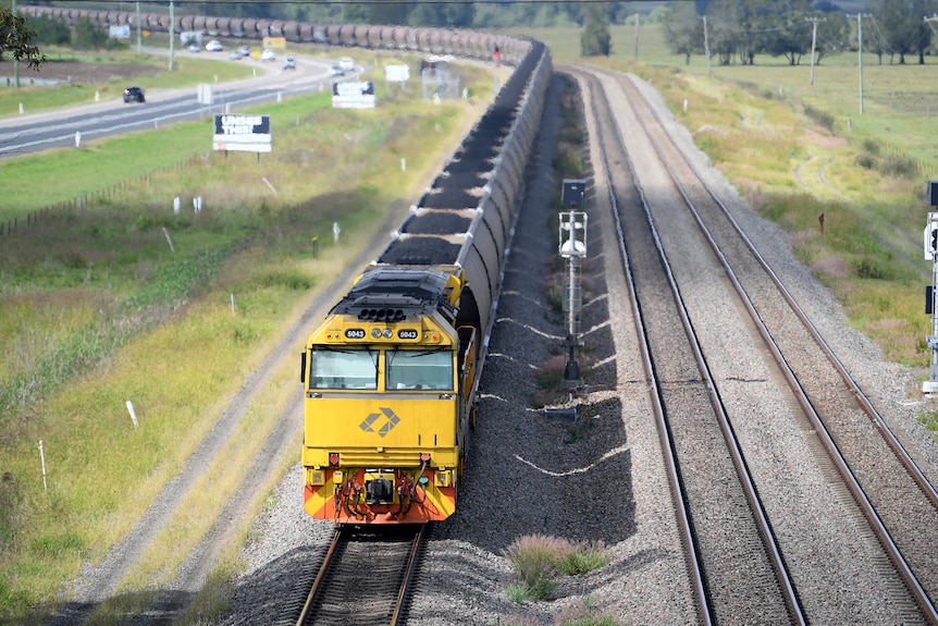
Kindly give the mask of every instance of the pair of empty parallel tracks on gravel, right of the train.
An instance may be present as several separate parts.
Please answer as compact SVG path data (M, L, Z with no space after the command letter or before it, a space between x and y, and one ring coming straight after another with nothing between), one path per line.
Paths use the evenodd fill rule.
M934 489L631 81L565 71L596 120L701 622L936 623ZM733 367L726 345L743 341ZM775 390L772 409L754 386ZM773 428L804 449L774 450ZM823 502L802 498L812 481ZM865 574L840 579L835 560Z

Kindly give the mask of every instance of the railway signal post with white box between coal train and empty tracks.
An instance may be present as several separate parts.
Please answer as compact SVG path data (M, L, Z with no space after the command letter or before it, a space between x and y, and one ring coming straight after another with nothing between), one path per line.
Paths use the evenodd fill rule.
M567 314L567 339L569 357L564 368L564 386L577 389L583 385L580 365L577 363L577 347L580 342L580 311L582 310L582 289L580 286L580 259L587 256L587 213L576 211L583 206L585 181L564 180L561 204L570 210L559 216L560 256L567 259L567 284L564 286L564 312Z

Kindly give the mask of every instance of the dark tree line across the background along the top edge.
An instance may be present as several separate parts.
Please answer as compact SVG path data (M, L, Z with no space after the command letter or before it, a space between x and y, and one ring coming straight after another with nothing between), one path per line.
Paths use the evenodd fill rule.
M9 2L9 0L7 0ZM4 3L0 0L0 4ZM36 1L36 4L62 4ZM67 4L67 3L65 3ZM95 2L82 2L92 8ZM114 2L101 2L113 8ZM125 2L125 5L134 4ZM169 2L140 2L143 11L162 12ZM334 2L198 2L177 0L177 11L226 17L263 17L313 23L368 23L471 29L509 27L580 27L583 56L609 54L612 24L664 24L671 52L686 62L694 54L709 54L718 64L753 64L757 54L780 57L798 65L814 49L814 61L844 51L865 52L879 62L904 64L917 56L925 63L934 51L938 28L938 0L868 0L867 12L849 14L830 0L695 0L663 2L649 12L645 2L434 2L412 0L337 0ZM927 17L935 16L934 22ZM18 41L3 46L0 13L0 54ZM10 25L8 14L7 25ZM22 29L13 28L14 32ZM39 42L61 42L65 35L48 24L35 24ZM48 39L52 39L51 41ZM27 44L28 47L28 44ZM28 57L27 57L28 58Z

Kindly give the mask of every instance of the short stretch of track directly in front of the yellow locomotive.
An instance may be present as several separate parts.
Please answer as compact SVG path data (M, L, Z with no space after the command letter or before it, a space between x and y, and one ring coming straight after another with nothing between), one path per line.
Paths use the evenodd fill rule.
M297 626L404 624L430 525L335 531Z

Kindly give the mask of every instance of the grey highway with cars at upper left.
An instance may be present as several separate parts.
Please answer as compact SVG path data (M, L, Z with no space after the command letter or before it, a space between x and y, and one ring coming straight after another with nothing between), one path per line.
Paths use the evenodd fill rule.
M147 97L144 103L125 105L121 97L0 119L0 158L49 148L81 147L82 143L108 135L159 128L185 120L211 119L215 114L331 86L333 78L329 76L329 67L333 61L291 54L297 59L295 70L283 69L283 57L270 63L240 61L251 63L257 76L212 85L210 103L199 101L197 87L147 90L141 84Z

